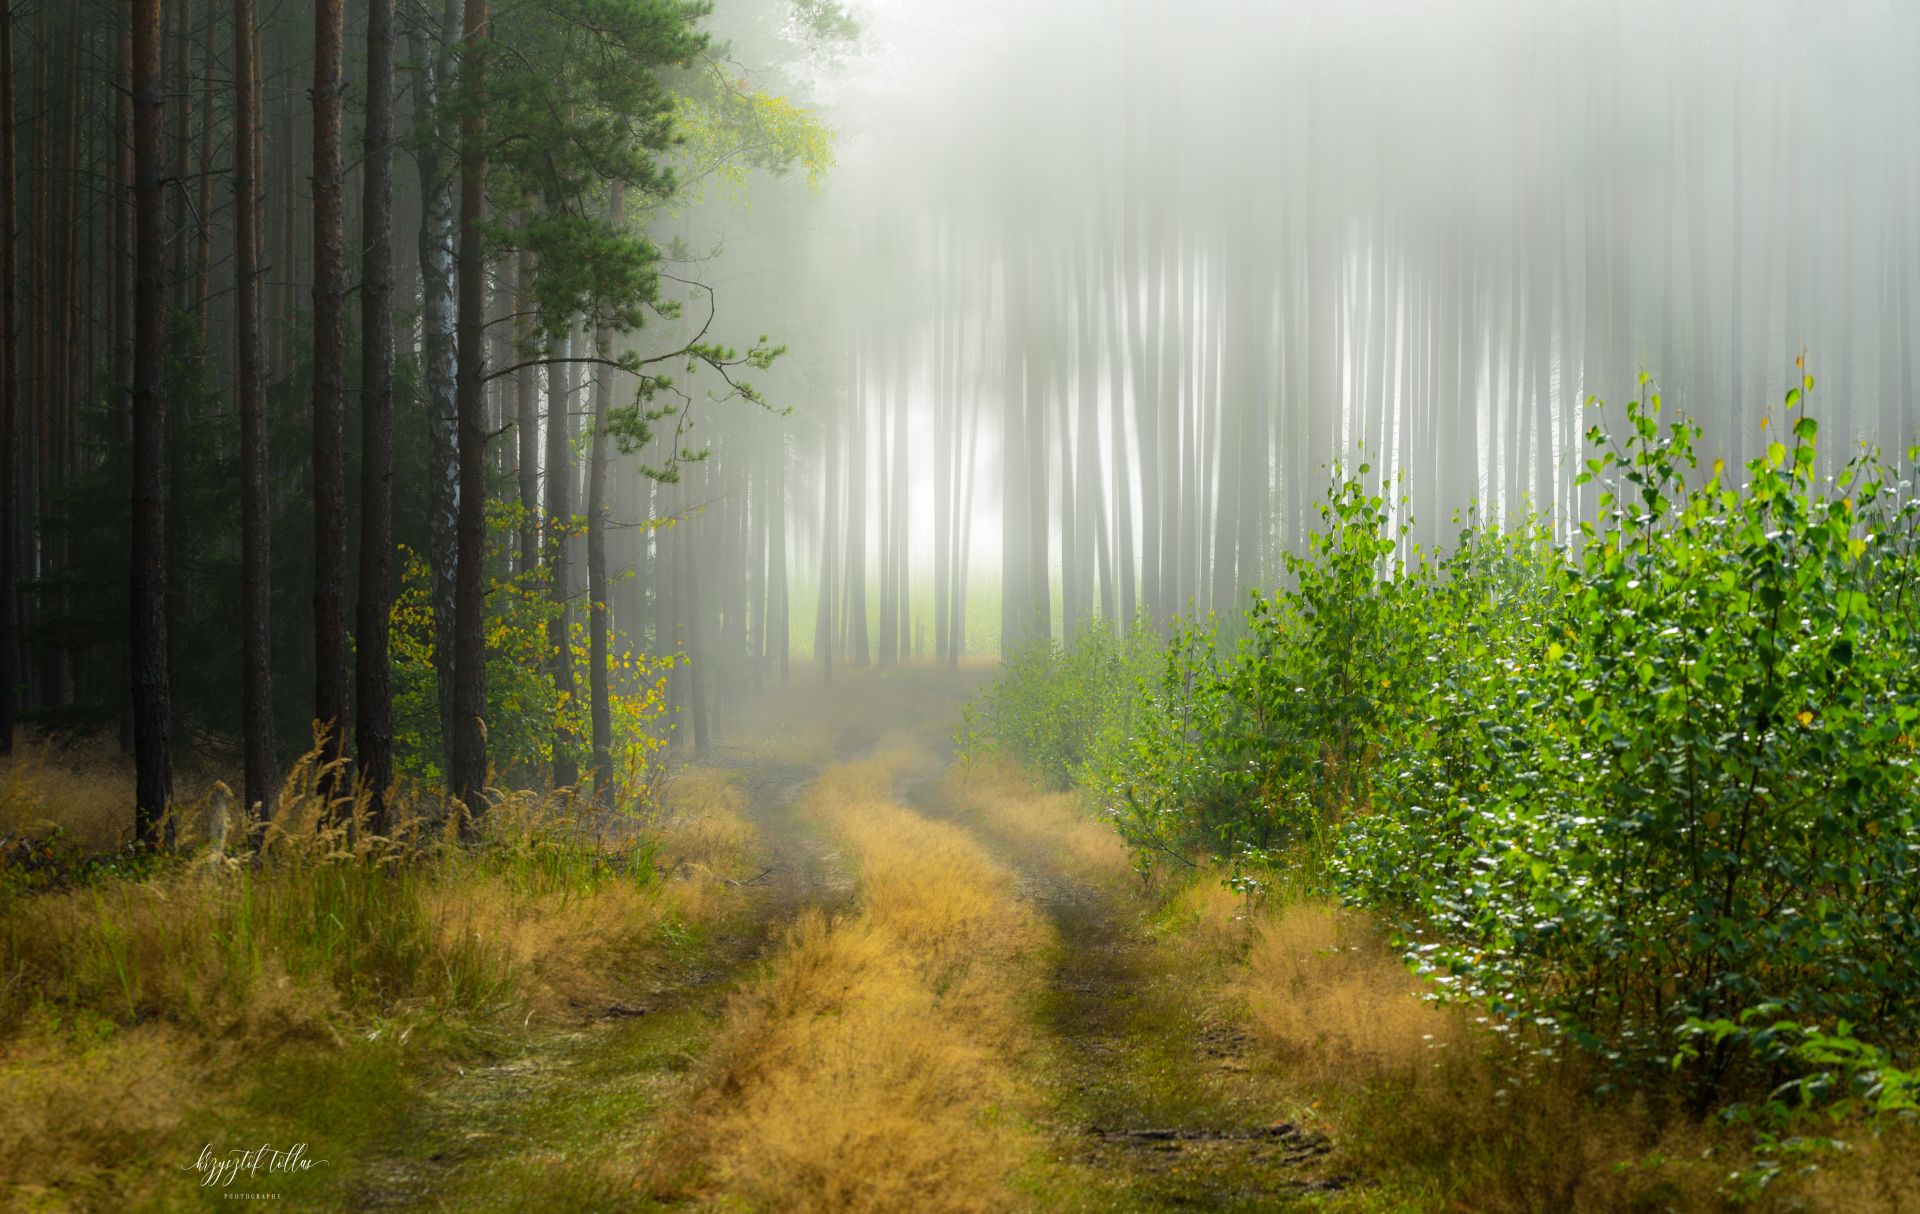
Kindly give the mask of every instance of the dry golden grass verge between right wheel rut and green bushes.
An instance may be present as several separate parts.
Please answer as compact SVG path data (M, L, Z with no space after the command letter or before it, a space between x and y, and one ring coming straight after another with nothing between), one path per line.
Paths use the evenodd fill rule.
M1363 1176L1448 1210L1720 1210L1738 1141L1636 1099L1584 1058L1425 999L1367 916L1294 899L1258 916L1250 1028ZM1824 1208L1824 1206L1814 1206Z

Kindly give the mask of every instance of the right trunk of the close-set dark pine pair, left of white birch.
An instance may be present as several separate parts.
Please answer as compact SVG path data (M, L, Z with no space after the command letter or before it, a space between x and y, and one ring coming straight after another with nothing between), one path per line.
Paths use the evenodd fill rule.
M361 202L361 553L353 749L386 832L394 782L388 617L394 582L394 0L369 0L367 158Z

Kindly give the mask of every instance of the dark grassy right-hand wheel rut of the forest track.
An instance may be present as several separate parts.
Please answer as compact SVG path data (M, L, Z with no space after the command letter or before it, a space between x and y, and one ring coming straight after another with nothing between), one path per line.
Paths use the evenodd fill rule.
M1020 874L1052 924L1031 1003L1044 1151L1016 1176L1039 1210L1327 1208L1350 1183L1331 1143L1286 1120L1288 1095L1250 1049L1227 960L1194 947L1181 909L1137 891L1106 828L1014 778L922 797Z

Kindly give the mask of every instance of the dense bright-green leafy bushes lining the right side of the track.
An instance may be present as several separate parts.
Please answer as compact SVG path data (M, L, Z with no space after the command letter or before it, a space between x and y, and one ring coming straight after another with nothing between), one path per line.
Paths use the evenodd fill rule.
M1620 440L1594 426L1572 544L1469 519L1402 561L1380 498L1338 482L1235 653L1181 624L1125 707L1110 661L1020 655L989 724L1142 859L1286 866L1382 909L1452 995L1676 1070L1699 1110L1818 1072L1778 1024L1847 1024L1899 1074L1920 501L1870 451L1816 474L1811 388L1738 484L1657 396Z

